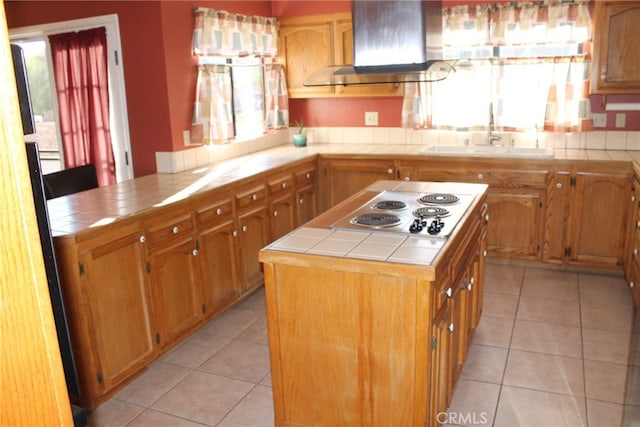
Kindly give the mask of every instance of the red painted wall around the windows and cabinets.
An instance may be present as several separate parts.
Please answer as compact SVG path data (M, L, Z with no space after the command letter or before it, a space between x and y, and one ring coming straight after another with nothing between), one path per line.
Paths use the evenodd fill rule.
M467 2L443 2L445 7L461 3ZM184 149L182 132L190 128L195 97L196 71L191 55L195 7L277 18L351 10L351 0L5 0L4 5L9 28L118 14L136 176L156 171L156 151ZM593 112L602 111L601 100L601 96L592 97ZM608 98L609 102L618 100L640 102L640 96ZM378 111L380 126L398 127L401 106L400 97L296 99L290 102L292 120L302 117L308 126L363 126L365 111ZM640 112L625 113L626 129L640 130ZM607 129L615 129L614 112L608 113L607 124Z

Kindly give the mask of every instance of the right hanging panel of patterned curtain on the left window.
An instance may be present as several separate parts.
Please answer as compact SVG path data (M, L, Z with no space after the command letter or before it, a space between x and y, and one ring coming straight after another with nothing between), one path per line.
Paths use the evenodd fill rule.
M289 125L289 95L282 65L265 65L264 82L265 127L267 129L287 127Z

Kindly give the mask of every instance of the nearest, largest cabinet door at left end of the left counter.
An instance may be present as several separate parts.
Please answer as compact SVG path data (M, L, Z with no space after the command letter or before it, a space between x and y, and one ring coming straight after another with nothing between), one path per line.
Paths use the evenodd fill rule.
M78 244L56 240L84 407L94 407L156 355L143 241L137 224Z

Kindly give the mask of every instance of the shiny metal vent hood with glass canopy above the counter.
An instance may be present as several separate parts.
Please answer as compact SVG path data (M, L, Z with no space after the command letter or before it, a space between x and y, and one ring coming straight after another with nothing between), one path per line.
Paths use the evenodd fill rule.
M437 81L442 59L440 1L353 0L353 65L323 68L305 86Z

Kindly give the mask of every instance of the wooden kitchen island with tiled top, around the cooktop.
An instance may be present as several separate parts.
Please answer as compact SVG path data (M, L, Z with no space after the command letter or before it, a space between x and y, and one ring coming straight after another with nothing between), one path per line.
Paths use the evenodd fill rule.
M482 311L486 190L379 181L260 251L276 425L438 425ZM334 227L384 191L472 197L446 236Z

